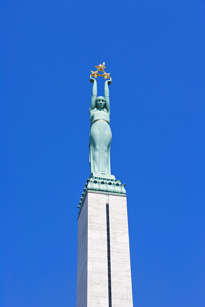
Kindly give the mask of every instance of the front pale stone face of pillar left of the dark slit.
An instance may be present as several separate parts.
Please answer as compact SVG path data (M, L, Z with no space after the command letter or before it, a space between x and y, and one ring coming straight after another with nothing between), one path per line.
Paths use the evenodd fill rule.
M88 192L87 198L87 307L108 307L106 194Z

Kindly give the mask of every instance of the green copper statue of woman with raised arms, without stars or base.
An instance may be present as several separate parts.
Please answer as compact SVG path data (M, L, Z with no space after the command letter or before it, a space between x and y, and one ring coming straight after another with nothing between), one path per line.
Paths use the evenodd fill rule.
M89 109L91 130L89 140L91 173L109 174L110 144L112 133L110 129L110 99L108 85L111 79L105 81L105 97L97 97L97 81L90 76L93 83L91 106Z

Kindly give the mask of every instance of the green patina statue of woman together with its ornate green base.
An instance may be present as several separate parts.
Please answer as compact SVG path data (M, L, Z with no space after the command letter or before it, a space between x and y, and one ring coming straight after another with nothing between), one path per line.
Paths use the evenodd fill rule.
M110 172L110 145L112 133L110 129L110 98L108 85L105 81L105 97L97 97L97 81L90 76L93 83L91 106L89 109L91 129L89 139L89 157L91 176L87 179L84 192L79 202L79 213L83 207L87 191L126 194L125 184L116 180Z

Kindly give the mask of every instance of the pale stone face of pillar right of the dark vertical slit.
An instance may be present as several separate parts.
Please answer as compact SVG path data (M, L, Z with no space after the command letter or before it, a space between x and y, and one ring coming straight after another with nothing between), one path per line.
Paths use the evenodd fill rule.
M112 307L133 307L126 197L109 195Z

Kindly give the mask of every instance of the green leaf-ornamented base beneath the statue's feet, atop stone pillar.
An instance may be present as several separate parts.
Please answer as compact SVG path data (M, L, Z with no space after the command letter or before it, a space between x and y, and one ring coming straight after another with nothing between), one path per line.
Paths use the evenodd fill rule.
M121 184L122 180L116 180L114 175L100 174L100 173L91 173L87 183L85 184L84 192L79 201L79 213L83 207L84 200L87 195L87 191L98 191L100 193L107 194L126 194L125 185Z

